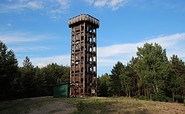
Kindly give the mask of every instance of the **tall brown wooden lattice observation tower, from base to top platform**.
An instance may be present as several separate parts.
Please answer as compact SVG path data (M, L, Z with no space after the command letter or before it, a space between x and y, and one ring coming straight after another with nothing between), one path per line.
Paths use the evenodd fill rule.
M99 20L81 14L70 18L68 25L71 28L70 96L96 96Z

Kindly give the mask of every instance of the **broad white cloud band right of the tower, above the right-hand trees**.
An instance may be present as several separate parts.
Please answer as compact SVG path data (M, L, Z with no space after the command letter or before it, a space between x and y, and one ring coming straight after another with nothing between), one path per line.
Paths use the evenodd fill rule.
M104 67L106 72L110 73L112 66L121 61L127 64L133 56L136 56L137 47L142 47L145 43L158 43L163 49L166 49L167 56L170 58L173 54L185 59L185 33L177 33L172 35L160 35L149 40L129 43L114 44L106 47L98 48L98 68L99 73L103 73Z

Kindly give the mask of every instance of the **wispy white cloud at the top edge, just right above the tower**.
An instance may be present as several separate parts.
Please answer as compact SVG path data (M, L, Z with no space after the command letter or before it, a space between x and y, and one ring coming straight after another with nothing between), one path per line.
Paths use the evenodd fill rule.
M110 7L113 11L117 10L128 0L85 0L86 2L93 4L95 7Z

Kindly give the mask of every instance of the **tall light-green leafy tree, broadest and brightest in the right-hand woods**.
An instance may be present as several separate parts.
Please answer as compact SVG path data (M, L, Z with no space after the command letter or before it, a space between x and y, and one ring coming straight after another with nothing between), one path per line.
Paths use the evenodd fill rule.
M138 48L135 69L138 73L138 88L144 88L144 96L148 99L152 94L162 93L166 77L169 75L169 62L166 50L158 44L144 44Z

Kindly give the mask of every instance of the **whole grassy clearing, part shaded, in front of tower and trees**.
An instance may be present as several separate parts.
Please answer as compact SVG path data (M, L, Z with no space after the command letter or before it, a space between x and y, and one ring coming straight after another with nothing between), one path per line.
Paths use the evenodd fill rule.
M0 103L0 114L185 114L178 103L133 98L25 98Z

